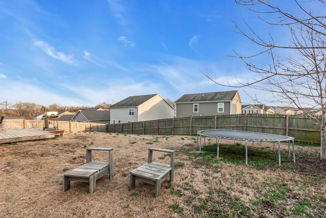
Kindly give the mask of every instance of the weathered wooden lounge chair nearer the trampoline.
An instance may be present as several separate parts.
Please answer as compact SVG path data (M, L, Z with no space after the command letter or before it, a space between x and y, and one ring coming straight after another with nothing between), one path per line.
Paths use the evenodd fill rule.
M171 154L170 165L153 162L153 151L166 152ZM148 162L143 166L130 172L129 190L135 187L135 180L155 185L155 198L160 195L161 183L170 177L169 183L173 182L174 177L174 158L175 151L159 148L148 149Z

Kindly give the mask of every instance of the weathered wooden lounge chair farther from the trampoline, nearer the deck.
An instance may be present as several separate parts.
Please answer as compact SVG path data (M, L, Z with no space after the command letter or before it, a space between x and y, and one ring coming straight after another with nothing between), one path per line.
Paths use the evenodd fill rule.
M92 161L92 151L108 151L108 162ZM90 193L96 190L96 180L108 173L108 178L112 179L113 173L113 148L87 148L86 163L63 176L63 191L70 188L70 181L89 182Z

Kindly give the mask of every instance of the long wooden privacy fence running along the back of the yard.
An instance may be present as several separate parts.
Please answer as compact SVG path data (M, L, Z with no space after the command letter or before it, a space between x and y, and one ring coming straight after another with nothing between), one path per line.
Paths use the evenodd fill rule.
M5 129L43 129L44 121L4 120ZM297 142L320 143L320 122L310 117L289 115L238 114L224 116L186 117L142 122L100 124L58 121L58 128L66 132L117 132L128 134L197 135L204 129L233 129L282 134Z

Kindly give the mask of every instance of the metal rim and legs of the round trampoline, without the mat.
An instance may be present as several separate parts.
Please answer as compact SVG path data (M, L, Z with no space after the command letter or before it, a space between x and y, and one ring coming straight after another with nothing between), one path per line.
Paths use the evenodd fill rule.
M259 137L254 137L252 139L242 139L242 138L230 138L230 137L223 137L221 135L213 135L213 134L207 134L205 131L232 131L234 134L237 132L241 132L241 134L245 133L254 133L256 135L264 135L264 136L271 136L273 137L282 137L283 139L258 139ZM197 132L197 145L198 145L198 135L200 135L200 143L199 143L199 152L201 154L201 146L202 146L202 136L204 136L204 142L206 143L206 137L210 138L216 138L216 143L218 144L217 148L217 158L219 159L220 155L220 139L226 139L226 140L236 140L236 141L246 141L246 165L248 165L248 141L253 142L274 142L274 150L275 150L275 142L278 142L278 147L279 147L279 166L281 165L281 146L280 142L287 141L288 142L288 147L289 147L289 157L291 156L291 151L290 151L290 141L292 141L292 151L293 151L293 162L295 163L295 149L294 149L294 138L289 137L287 135L278 135L278 134L270 134L270 133L261 133L261 132L252 132L252 131L242 131L242 130L232 130L232 129L205 129L205 130L200 130ZM249 135L249 134L248 134ZM270 137L272 138L272 137Z

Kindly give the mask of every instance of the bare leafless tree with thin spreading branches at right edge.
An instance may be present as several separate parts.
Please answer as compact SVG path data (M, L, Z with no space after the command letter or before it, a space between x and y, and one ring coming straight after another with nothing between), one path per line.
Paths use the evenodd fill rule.
M274 102L296 106L320 123L321 143L320 159L326 159L326 17L323 0L311 0L296 3L297 11L288 11L267 0L235 0L235 2L258 16L259 22L268 25L269 29L286 30L281 41L273 33L261 34L243 19L245 28L234 22L236 33L262 48L257 53L243 54L236 50L235 56L243 61L247 69L256 73L255 80L243 82L238 79L237 85L222 84L212 79L208 71L205 76L214 83L227 87L251 87L270 93ZM309 9L311 4L315 10L323 8L321 15ZM288 44L286 44L288 43ZM257 58L267 58L270 64L263 66ZM260 102L259 99L253 99ZM310 110L320 111L320 117L314 116Z

